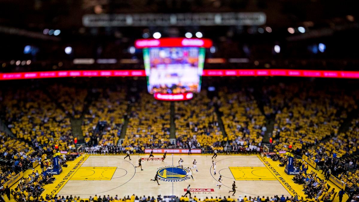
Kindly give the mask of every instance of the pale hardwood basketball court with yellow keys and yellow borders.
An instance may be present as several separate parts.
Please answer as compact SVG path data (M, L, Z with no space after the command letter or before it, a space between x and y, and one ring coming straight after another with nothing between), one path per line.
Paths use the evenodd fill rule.
M292 176L284 173L283 167L278 167L270 159L258 155L233 155L216 157L216 175L209 155L171 155L162 162L162 154L147 160L148 155L131 155L131 160L124 156L115 155L83 155L64 168L60 175L55 175L54 184L45 185L46 194L60 196L80 196L88 198L97 194L110 196L162 196L185 194L188 184L191 185L193 196L229 196L233 181L236 182L237 192L234 197L243 196L290 196L293 193L304 196L301 186L292 182ZM142 162L143 171L135 168L138 160ZM196 159L197 169L192 168L193 177L186 176L185 171L176 168L178 160L183 159L183 167L192 168ZM270 162L270 163L269 163ZM271 169L275 167L275 169ZM160 185L150 181L159 173ZM222 175L222 187L216 185L219 175ZM278 177L279 176L279 177ZM290 186L286 186L286 184ZM192 197L193 197L192 196ZM231 196L232 197L232 196ZM232 197L233 198L233 197Z

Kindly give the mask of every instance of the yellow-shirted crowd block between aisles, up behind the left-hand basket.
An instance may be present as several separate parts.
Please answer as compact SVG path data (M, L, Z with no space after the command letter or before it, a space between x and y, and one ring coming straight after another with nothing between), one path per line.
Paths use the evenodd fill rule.
M70 119L39 89L9 91L2 101L4 121L20 140L32 145L34 150L53 152L73 150Z

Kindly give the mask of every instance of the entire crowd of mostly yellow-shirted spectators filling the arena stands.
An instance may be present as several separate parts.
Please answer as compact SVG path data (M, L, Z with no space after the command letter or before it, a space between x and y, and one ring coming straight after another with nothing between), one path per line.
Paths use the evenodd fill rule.
M64 91L54 97L65 112L58 109L51 98L39 89L9 91L6 97L0 96L0 107L4 110L2 118L17 137L0 135L0 155L10 162L0 169L1 185L19 171L27 169L32 162L54 153L55 144L59 145L58 150L75 149L69 115L79 118L83 114L87 91L52 86L50 92L59 91L60 88ZM264 106L265 115L253 97L251 88L236 92L221 89L219 99L209 99L206 91L202 91L190 101L175 103L175 145L169 141L169 102L157 101L148 93L140 93L139 99L130 104L132 107L127 114L129 103L125 90L104 89L98 92L97 100L84 112L82 123L87 143L83 151L87 153L118 154L126 150L141 153L144 148L172 146L211 147L221 152L258 152L261 151L266 132L265 116L272 116L275 120L272 136L275 150L287 150L292 145L293 151L302 150L324 174L330 172L343 181L347 191L358 190L358 159L344 157L359 149L359 119L352 121L346 133L338 133L347 114L357 106L353 96L340 94L336 89L328 93L304 84L266 87L263 91L263 95L268 97ZM71 96L76 99L73 100ZM222 113L227 137L220 129L216 108ZM126 118L129 119L126 136L123 142L119 142ZM325 138L326 141L323 141ZM311 201L331 201L334 196L334 191L329 190L328 184L314 172L301 173L295 177L295 182L304 185ZM23 198L36 201L42 192L42 183L51 183L51 178L33 173L22 178L12 194L20 201ZM105 198L111 201L111 198ZM254 197L252 199L247 198L248 201L256 201ZM267 199L275 201L274 198L260 200ZM127 202L127 198L119 201Z

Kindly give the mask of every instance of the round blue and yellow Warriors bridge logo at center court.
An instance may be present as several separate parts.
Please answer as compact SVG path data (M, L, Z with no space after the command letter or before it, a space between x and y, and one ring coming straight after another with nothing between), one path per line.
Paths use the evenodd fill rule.
M185 169L175 166L164 166L157 170L160 181L163 182L181 182L188 180L190 177L187 177L186 173Z

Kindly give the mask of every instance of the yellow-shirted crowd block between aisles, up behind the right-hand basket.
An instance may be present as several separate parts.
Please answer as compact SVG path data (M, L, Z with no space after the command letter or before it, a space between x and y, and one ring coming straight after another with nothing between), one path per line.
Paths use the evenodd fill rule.
M311 84L279 84L264 89L265 115L275 116L272 138L276 150L292 145L299 152L337 135L348 112L356 108L353 96L335 87L315 89Z

